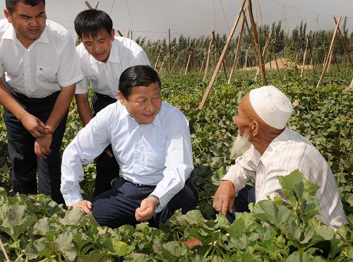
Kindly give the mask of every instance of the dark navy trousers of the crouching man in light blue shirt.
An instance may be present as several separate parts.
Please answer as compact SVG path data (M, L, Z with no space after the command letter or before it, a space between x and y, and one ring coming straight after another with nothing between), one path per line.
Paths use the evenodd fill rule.
M135 218L135 210L153 190L155 186L136 186L123 178L115 179L113 189L92 199L92 213L101 226L115 228L121 225L136 225L139 222ZM167 206L160 213L155 213L148 222L150 226L157 227L160 222L165 222L179 208L183 214L193 210L197 201L198 191L189 179L184 189L181 189Z

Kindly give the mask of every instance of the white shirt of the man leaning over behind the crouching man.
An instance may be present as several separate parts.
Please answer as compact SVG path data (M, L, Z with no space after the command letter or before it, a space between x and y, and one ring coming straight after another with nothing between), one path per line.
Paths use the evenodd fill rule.
M126 37L115 37L107 63L96 60L80 43L76 47L85 78L76 85L76 94L88 93L87 84L93 91L118 98L119 78L130 66L148 65L150 61L143 49Z

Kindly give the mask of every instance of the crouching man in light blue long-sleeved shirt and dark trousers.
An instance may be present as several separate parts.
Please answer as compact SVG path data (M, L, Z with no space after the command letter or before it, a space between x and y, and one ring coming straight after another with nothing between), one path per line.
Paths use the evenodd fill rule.
M102 226L148 221L157 226L181 208L192 210L198 192L189 123L179 109L162 102L160 78L150 66L131 66L120 76L119 100L100 111L64 151L61 192L67 206L80 206ZM113 189L83 200L83 167L112 143L121 168Z

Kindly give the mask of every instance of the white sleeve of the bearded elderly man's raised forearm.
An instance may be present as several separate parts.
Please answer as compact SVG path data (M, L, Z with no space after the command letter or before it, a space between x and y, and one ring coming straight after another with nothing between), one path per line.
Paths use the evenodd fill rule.
M229 167L227 174L222 180L232 181L234 184L235 192L239 192L246 186L250 180L255 181L255 148L251 145L251 148L247 150L243 155L237 157L235 165Z

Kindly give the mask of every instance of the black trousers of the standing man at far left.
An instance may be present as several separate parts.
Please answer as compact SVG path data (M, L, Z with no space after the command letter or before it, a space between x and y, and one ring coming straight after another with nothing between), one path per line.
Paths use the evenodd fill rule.
M30 114L43 123L47 122L54 108L59 91L43 98L30 98L13 91L10 85L4 84L18 103ZM35 155L35 138L23 124L4 108L4 122L7 129L8 155L11 160L11 182L13 193L39 193L50 196L56 203L64 203L60 192L61 183L61 141L64 136L67 114L53 133L52 153L47 159Z

